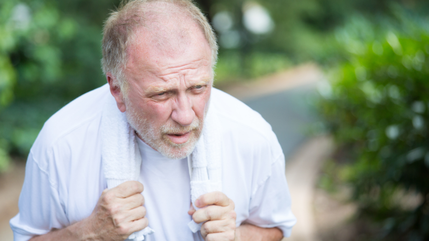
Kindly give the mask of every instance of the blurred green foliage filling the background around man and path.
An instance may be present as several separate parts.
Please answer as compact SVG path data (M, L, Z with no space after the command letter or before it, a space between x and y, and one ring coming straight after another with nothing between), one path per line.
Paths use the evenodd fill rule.
M220 45L216 83L316 62L317 107L338 143L321 185L349 183L372 240L429 240L429 2L196 0ZM106 83L103 21L119 0L0 1L0 172L43 123ZM401 193L418 205L403 207Z

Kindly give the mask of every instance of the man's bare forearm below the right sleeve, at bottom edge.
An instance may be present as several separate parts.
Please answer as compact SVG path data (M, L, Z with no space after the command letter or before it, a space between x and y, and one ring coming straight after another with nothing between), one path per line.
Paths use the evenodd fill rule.
M283 232L278 228L260 228L248 223L236 230L236 241L280 241Z

